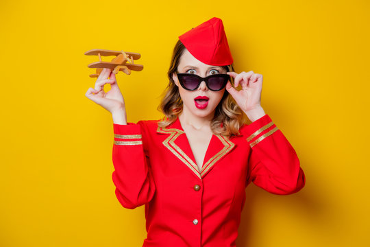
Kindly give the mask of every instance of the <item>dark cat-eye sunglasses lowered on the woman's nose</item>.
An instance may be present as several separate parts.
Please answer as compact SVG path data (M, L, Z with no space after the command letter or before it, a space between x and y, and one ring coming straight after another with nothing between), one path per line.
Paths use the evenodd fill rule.
M177 73L177 78L179 78L181 86L189 91L194 91L199 88L203 81L206 82L208 89L211 91L220 91L226 86L227 81L230 80L230 75L214 74L208 75L206 78L202 78L195 74Z

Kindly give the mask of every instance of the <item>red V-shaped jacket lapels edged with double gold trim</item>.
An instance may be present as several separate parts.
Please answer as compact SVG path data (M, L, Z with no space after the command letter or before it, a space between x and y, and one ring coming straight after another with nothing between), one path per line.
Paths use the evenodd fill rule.
M167 128L160 128L158 126L157 133L168 134L168 137L162 142L164 147L179 158L199 179L204 178L212 167L235 147L235 143L226 137L220 134L213 134L206 151L206 156L204 156L201 171L199 172L194 154L178 117Z

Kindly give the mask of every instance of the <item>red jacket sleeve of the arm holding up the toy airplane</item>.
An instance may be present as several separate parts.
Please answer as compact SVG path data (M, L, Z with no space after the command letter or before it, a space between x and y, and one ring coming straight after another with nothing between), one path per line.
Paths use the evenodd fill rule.
M112 161L116 198L126 209L147 204L156 191L149 166L145 124L113 124Z

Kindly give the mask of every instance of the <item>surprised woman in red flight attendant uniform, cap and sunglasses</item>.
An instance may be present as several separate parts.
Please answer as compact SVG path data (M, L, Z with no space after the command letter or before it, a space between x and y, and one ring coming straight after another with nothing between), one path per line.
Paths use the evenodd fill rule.
M86 93L112 113L116 197L127 209L145 204L143 246L235 246L249 183L280 195L305 185L295 150L260 105L262 75L235 73L232 62L212 18L179 36L162 120L127 123L109 69Z

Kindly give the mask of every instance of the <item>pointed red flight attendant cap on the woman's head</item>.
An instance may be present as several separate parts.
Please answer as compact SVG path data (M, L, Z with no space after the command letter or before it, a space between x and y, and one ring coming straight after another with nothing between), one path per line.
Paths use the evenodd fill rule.
M179 36L186 49L205 64L224 66L234 61L222 20L213 17Z

